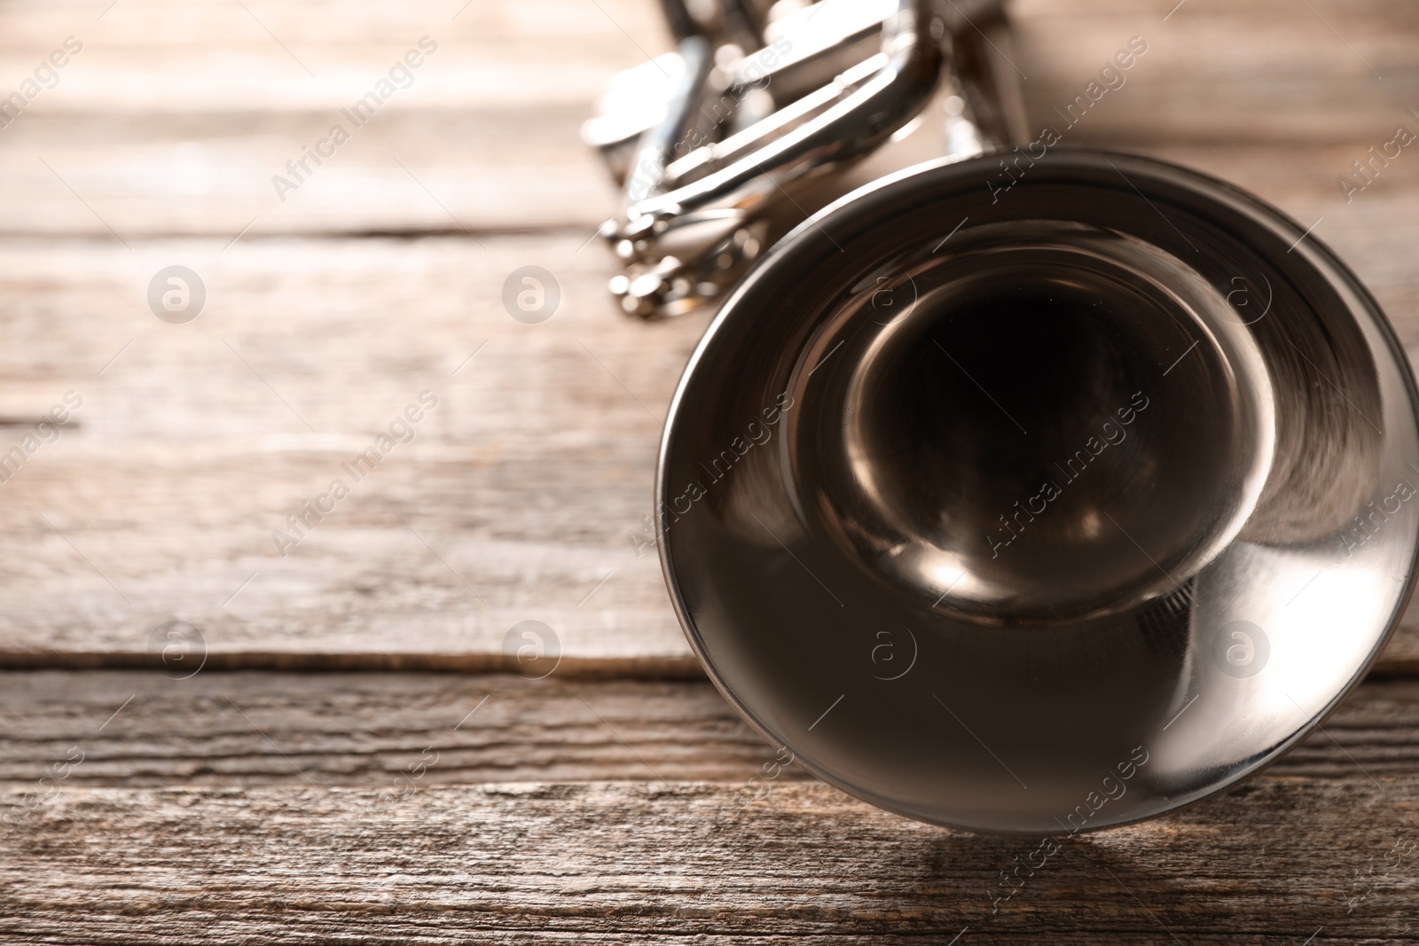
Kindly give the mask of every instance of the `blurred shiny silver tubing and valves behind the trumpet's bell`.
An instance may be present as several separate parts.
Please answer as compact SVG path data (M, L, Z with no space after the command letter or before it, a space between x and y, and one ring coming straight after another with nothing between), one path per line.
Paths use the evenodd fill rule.
M874 150L929 99L945 23L925 0L887 10L844 4L813 26L810 14L827 7L797 13L800 28L751 55L719 47L714 69L708 40L690 35L673 61L647 64L671 82L640 75L639 85L650 79L664 98L637 96L627 91L634 77L624 78L603 116L587 123L583 136L624 183L624 207L602 235L626 267L612 281L626 312L680 315L718 296L782 234L775 213L802 220L816 176ZM864 34L876 34L878 48L856 61ZM813 77L826 81L813 85ZM620 153L637 135L636 157L623 166Z

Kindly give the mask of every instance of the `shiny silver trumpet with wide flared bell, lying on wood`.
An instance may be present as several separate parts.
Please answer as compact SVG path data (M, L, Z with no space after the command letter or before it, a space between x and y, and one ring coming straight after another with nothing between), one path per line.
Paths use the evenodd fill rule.
M1154 817L1304 738L1419 543L1415 380L1355 275L1236 187L1027 125L996 3L666 11L677 51L585 136L623 309L718 306L656 519L725 696L972 831Z

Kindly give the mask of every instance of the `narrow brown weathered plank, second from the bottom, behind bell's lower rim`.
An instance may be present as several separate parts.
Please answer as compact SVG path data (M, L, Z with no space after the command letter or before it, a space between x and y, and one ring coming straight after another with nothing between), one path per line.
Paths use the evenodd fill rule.
M511 674L0 674L0 783L78 757L65 784L382 787L698 780L773 770L707 681L541 681ZM1368 781L1410 774L1419 681L1369 681L1270 770ZM810 776L797 766L782 779Z

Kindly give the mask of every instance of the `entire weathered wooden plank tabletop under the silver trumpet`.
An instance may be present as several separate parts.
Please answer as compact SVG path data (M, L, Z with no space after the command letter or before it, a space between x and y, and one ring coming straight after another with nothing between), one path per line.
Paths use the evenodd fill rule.
M1413 355L1419 149L1348 200L1337 177L1419 130L1419 10L1169 7L1015 4L1032 115L1145 37L1077 140L1317 221ZM421 37L407 88L278 193ZM1419 620L1266 774L1077 837L1007 899L1033 845L778 772L631 538L707 316L616 313L590 241L614 194L578 126L667 48L650 0L0 7L0 95L31 99L0 129L0 454L23 460L0 482L0 935L1419 937ZM148 301L170 265L206 288L180 325ZM545 323L502 308L522 265L561 285ZM346 478L421 391L412 440ZM335 478L333 511L274 538ZM521 621L555 634L543 679L512 672Z

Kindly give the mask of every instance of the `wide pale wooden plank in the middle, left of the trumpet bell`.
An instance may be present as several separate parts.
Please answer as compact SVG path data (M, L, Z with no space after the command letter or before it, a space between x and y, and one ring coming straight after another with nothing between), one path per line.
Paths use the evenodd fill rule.
M1334 243L1371 247L1386 206L1357 200ZM624 319L583 241L0 241L0 454L84 399L0 482L0 665L150 667L155 630L183 620L213 667L499 669L536 620L562 672L694 674L631 536L705 316ZM1419 340L1419 264L1374 245L1355 262ZM145 301L175 262L207 284L187 325ZM541 325L501 302L528 264L562 288ZM342 464L423 390L438 407L356 482ZM278 546L336 478L350 495ZM1413 625L1382 667L1419 671Z

